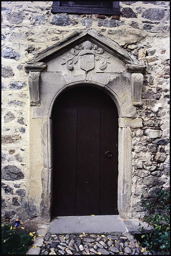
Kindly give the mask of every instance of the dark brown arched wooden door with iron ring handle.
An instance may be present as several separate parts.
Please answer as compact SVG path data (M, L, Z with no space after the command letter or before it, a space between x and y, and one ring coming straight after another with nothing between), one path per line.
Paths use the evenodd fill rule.
M52 118L53 216L118 214L118 112L112 99L90 86L69 89L55 102Z

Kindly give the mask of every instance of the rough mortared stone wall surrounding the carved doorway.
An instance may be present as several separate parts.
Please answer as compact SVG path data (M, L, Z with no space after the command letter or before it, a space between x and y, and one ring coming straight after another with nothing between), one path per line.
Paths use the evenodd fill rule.
M24 64L76 30L94 28L147 65L132 133L132 217L141 195L169 186L169 1L120 1L119 19L52 14L52 1L2 1L2 215L28 218L29 87ZM35 170L36 172L36 170Z

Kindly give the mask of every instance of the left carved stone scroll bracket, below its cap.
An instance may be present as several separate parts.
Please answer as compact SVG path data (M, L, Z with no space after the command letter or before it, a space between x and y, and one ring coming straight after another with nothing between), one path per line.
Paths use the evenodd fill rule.
M30 106L40 106L40 72L29 72Z

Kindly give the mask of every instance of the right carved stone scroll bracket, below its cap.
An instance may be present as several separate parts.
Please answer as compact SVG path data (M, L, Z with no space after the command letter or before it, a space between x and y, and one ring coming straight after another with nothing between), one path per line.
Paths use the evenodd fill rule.
M143 74L132 73L131 86L132 86L132 105L133 106L142 105L141 95L142 95L142 86L143 86Z

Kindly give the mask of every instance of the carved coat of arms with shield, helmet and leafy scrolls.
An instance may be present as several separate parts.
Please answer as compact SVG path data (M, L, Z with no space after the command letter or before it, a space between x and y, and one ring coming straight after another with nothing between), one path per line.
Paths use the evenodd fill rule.
M94 69L95 60L100 61L100 70L104 70L107 67L107 63L111 63L110 56L104 53L104 50L98 47L96 44L92 44L90 41L85 41L82 44L76 45L70 50L66 56L62 57L64 60L61 65L66 64L68 70L73 70L73 64L80 59L80 68L86 72Z

